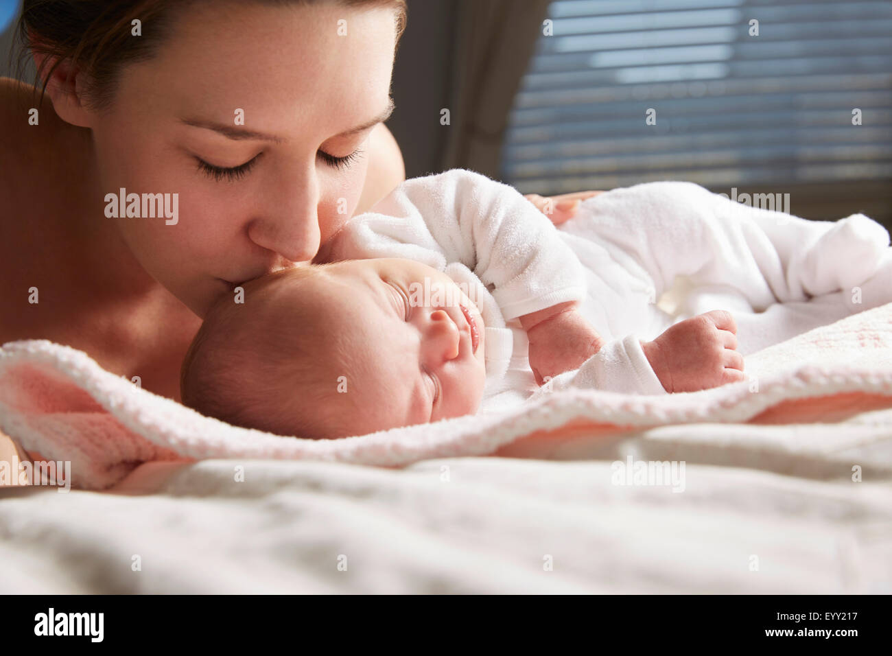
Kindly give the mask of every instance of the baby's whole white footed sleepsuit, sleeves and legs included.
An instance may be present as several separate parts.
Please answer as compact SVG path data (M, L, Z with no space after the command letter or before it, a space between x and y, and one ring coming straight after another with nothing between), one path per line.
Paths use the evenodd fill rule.
M456 169L406 180L352 217L328 259L408 258L473 290L486 324L481 410L490 411L539 392L518 320L524 314L580 301L607 340L549 390L664 394L640 340L725 309L747 354L886 303L888 244L885 228L861 214L804 220L687 182L615 189L582 202L574 219L555 228L515 188ZM687 289L670 314L657 302L676 284Z

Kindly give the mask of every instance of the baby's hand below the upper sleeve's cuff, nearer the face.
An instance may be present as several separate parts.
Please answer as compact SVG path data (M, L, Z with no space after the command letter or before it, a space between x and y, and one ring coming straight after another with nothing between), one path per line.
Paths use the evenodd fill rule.
M578 369L601 350L604 340L577 307L577 303L561 303L520 318L530 340L530 368L537 384Z

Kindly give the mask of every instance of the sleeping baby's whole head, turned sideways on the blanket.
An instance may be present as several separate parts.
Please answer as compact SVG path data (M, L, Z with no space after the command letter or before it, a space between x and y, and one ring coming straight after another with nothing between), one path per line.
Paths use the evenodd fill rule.
M459 417L483 398L483 332L466 291L424 264L301 264L214 305L181 394L209 417L310 438Z

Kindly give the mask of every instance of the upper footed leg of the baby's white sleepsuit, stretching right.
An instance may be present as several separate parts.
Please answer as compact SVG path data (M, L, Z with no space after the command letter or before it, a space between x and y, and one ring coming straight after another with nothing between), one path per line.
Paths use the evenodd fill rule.
M583 211L619 262L648 274L657 299L676 276L738 289L759 310L849 291L880 270L889 245L888 231L862 214L805 220L690 182L614 189L587 200Z

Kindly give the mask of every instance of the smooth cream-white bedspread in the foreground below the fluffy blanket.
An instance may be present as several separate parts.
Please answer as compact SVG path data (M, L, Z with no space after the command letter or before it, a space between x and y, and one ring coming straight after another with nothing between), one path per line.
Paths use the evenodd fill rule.
M667 426L591 461L147 463L120 494L0 492L0 593L890 593L890 426ZM684 491L613 485L630 454L685 460Z

